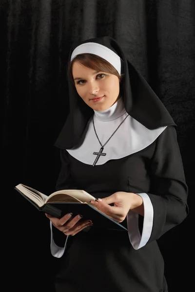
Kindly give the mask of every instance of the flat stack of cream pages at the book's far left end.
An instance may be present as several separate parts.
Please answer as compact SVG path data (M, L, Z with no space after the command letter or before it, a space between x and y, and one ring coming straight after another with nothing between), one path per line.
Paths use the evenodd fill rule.
M24 185L24 184L18 184L16 185L16 188L24 194L27 198L29 198L31 201L34 201L39 207L42 207L45 200L48 198L48 196L38 192L37 190Z

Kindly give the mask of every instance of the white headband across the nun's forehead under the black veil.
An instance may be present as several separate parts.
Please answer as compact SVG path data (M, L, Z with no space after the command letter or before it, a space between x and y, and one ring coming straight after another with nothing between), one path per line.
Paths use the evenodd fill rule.
M76 55L85 53L94 54L98 55L99 57L102 57L111 65L113 65L120 75L121 72L120 57L109 48L94 42L81 44L73 51L71 55L71 61L76 57Z

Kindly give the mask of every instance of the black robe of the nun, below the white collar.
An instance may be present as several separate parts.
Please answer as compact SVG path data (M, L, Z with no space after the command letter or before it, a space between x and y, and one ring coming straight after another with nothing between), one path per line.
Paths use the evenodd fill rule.
M69 236L55 279L56 292L167 292L164 261L156 239L188 214L188 188L175 127L168 126L143 150L95 167L81 163L64 149L60 149L60 157L57 190L83 189L96 198L117 191L146 193L154 208L154 220L147 244L138 250L124 231L103 232L92 227ZM140 233L142 222L139 215ZM126 220L122 224L126 225ZM58 235L55 231L57 244Z

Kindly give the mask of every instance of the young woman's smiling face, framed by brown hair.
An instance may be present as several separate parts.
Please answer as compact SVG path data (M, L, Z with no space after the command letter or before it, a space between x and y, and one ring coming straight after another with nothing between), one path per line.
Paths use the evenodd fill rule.
M74 62L73 78L78 95L93 110L109 109L119 97L119 79L116 75L95 72Z

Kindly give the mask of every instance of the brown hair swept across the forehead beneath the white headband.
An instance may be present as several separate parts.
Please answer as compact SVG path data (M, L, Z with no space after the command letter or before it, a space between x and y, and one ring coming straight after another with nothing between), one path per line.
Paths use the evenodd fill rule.
M117 69L115 69L113 65L111 65L108 61L97 55L89 53L79 54L68 64L68 74L71 76L71 79L74 84L75 82L73 79L72 68L75 61L78 61L78 63L80 63L81 65L88 67L90 69L94 69L98 72L103 71L106 73L116 75L119 79L119 82L121 82L121 79L124 75L124 74L119 75Z

